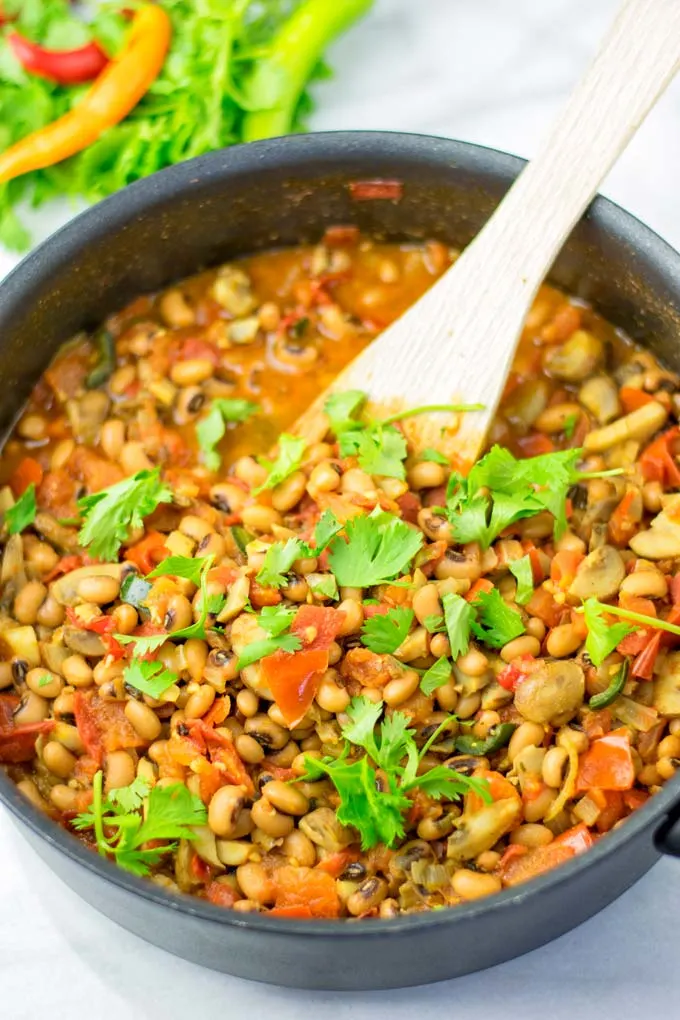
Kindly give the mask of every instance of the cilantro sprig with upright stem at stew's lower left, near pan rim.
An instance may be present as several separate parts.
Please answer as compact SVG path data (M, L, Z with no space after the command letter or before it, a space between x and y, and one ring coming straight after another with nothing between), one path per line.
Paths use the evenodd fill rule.
M177 839L195 839L194 826L207 822L205 807L184 782L150 788L145 779L137 778L106 797L102 785L103 775L96 772L92 804L72 825L94 829L99 853L136 875L149 874L164 854L175 850ZM157 839L164 846L145 847Z

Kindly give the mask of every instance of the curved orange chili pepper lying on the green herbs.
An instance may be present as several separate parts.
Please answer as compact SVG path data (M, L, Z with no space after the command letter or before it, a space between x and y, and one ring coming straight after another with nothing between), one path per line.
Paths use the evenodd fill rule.
M161 7L140 7L121 52L107 64L83 100L0 156L0 182L60 163L124 119L158 76L170 34L170 19Z

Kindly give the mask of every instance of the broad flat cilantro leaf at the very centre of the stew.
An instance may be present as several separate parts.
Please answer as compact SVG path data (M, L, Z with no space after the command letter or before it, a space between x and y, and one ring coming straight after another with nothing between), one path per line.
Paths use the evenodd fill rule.
M335 536L328 562L341 586L372 588L403 573L423 544L421 531L377 508L347 521L347 541Z

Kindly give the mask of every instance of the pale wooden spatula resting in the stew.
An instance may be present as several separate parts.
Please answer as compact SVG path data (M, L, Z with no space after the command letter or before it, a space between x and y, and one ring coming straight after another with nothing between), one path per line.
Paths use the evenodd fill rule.
M440 279L337 376L294 431L316 441L331 392L362 390L384 417L421 405L477 404L404 421L415 450L474 461L536 292L603 177L680 65L680 0L626 0L538 155ZM460 426L460 427L459 427Z

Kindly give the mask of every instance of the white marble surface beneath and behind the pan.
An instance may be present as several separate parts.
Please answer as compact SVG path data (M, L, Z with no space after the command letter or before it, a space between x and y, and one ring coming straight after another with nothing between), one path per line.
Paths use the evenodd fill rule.
M331 0L329 0L331 2ZM446 135L531 155L615 0L376 0L336 47L314 126ZM680 247L680 82L604 191ZM45 236L68 218L37 220ZM0 253L0 273L12 259ZM615 866L615 865L613 865ZM680 1014L680 865L663 861L576 931L482 974L376 993L224 977L147 947L53 879L0 813L0 1017L6 1020L632 1020ZM455 952L452 947L451 952Z

